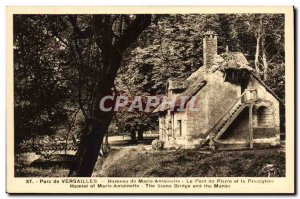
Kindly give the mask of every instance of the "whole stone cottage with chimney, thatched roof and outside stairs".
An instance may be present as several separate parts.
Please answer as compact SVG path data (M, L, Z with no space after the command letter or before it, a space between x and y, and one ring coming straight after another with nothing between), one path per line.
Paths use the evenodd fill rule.
M213 31L204 34L203 56L204 65L190 77L167 83L169 97L196 96L198 111L158 106L154 112L159 113L160 140L183 148L279 145L280 99L254 73L245 56L228 51L217 54Z

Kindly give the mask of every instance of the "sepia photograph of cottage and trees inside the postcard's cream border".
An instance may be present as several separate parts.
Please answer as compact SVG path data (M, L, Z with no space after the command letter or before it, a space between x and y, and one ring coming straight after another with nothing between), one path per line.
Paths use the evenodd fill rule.
M13 178L285 179L286 13L132 13L12 14Z

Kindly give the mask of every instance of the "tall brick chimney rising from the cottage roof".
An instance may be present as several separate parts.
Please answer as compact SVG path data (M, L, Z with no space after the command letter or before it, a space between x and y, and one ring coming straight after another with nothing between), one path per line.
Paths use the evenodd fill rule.
M217 34L214 31L207 31L203 36L203 65L210 69L217 56Z

